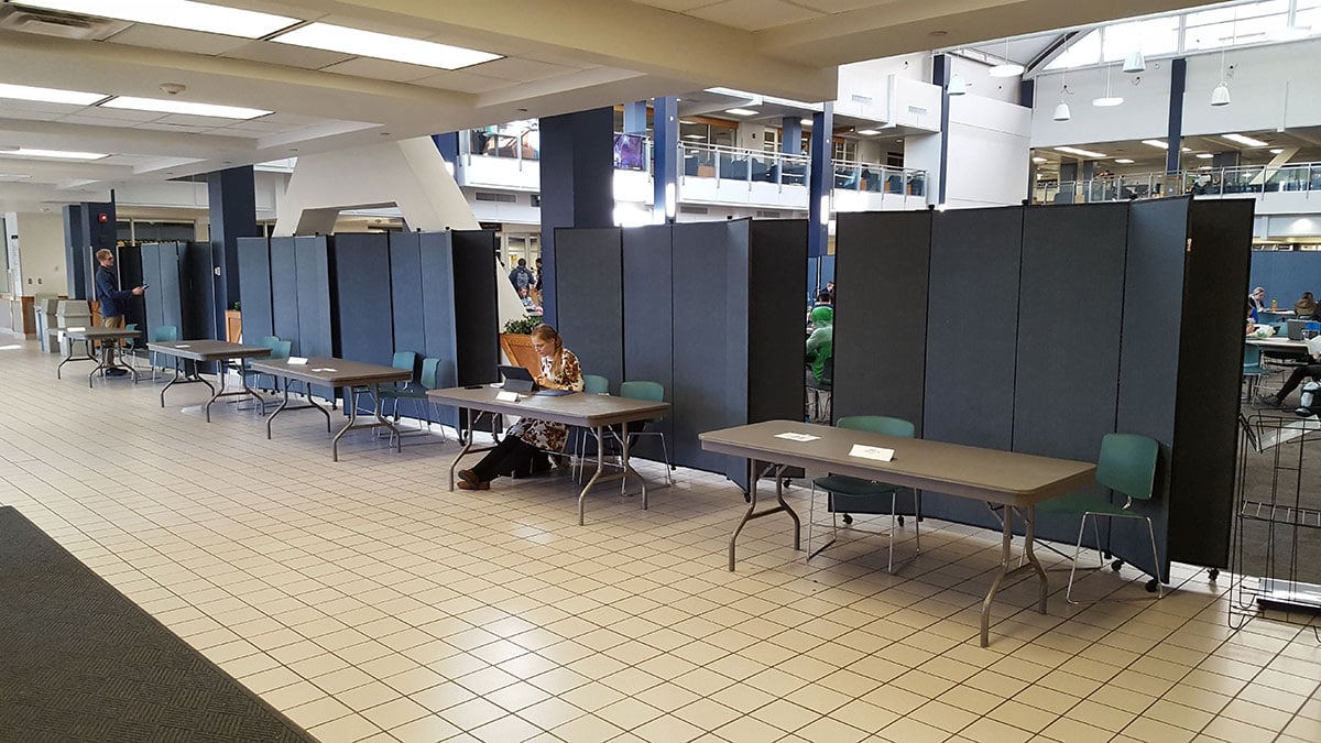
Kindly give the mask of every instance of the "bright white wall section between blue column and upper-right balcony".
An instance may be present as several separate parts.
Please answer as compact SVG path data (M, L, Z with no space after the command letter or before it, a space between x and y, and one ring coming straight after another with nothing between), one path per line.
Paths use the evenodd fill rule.
M1018 204L1028 194L1032 110L980 95L950 99L950 206Z

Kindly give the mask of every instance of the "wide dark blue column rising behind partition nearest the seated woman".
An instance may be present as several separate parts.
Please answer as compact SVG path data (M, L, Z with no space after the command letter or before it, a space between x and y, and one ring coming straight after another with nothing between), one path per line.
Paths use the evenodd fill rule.
M555 315L555 229L614 225L614 110L547 116L542 131L543 317Z

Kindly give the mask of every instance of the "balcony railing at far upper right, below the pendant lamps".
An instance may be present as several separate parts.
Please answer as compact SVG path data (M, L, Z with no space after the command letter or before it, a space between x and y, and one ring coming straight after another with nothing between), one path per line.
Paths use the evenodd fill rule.
M1102 176L1087 181L1037 181L1037 204L1125 201L1164 196L1235 196L1281 192L1321 194L1321 163L1238 165L1207 171Z

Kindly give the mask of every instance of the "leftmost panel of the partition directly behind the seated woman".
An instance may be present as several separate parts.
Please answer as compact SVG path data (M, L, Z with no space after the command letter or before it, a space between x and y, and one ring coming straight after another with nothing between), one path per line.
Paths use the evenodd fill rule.
M624 266L620 227L559 229L555 276L565 345L585 374L624 378Z

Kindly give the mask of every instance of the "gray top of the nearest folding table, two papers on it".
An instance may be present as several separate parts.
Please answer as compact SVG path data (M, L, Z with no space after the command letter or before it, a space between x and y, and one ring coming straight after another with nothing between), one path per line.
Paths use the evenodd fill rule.
M818 439L794 442L777 438L786 432L810 434ZM1096 471L1096 465L1087 461L882 436L795 420L721 428L697 438L703 450L719 453L823 467L838 475L1015 506L1033 505L1090 485ZM849 456L853 444L894 450L894 459L878 461Z

